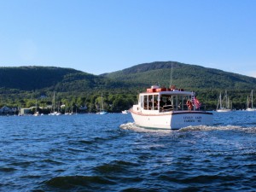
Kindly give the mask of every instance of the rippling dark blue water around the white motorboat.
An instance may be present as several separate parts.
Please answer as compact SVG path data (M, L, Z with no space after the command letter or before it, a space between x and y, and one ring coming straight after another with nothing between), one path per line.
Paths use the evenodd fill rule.
M0 191L255 191L256 112L156 131L131 114L0 117Z

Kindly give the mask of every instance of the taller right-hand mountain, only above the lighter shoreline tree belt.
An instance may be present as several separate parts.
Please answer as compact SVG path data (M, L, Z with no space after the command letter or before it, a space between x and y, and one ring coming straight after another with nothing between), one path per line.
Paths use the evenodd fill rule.
M169 87L171 74L172 84L190 90L250 90L256 88L255 78L175 61L143 63L121 71L104 73L102 76L115 81L140 84L146 87L152 84Z

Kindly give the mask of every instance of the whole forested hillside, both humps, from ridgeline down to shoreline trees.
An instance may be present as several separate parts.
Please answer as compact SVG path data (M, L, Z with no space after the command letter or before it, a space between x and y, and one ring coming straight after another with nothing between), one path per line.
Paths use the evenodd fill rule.
M209 110L216 108L224 90L237 109L245 108L248 94L256 90L255 78L174 61L144 63L102 75L61 67L0 67L0 107L30 108L37 101L39 106L49 106L55 91L56 101L73 108L86 105L87 112L98 110L103 94L105 108L120 112L131 108L137 94L153 84L193 90Z

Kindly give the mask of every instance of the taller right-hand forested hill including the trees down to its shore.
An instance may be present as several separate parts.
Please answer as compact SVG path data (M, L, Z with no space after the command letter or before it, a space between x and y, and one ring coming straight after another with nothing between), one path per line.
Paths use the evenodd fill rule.
M102 76L126 84L137 84L140 88L151 84L169 87L172 76L173 85L195 91L204 106L211 110L216 109L219 93L224 94L224 90L228 91L236 109L246 108L247 96L251 90L256 90L255 78L175 61L143 63Z

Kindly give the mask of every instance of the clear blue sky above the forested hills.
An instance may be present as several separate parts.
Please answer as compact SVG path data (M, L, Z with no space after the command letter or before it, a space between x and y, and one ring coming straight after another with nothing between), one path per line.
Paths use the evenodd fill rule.
M0 0L0 67L178 61L256 78L255 0Z

